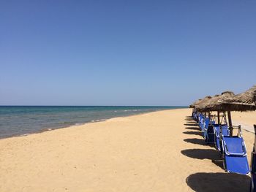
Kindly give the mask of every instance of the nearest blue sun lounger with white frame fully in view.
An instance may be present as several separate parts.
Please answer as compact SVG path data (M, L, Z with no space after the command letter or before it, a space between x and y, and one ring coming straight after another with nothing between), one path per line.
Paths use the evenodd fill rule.
M227 172L249 174L246 146L241 135L241 127L236 137L222 136L224 167Z

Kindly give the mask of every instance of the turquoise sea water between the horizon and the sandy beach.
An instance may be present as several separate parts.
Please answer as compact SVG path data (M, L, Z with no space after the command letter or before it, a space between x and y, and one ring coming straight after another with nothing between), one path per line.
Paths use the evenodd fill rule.
M183 107L0 106L0 138Z

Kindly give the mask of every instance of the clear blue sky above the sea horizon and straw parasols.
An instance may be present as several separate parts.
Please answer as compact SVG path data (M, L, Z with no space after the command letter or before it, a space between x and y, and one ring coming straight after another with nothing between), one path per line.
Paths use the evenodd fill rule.
M256 1L0 2L0 105L188 105L255 72Z

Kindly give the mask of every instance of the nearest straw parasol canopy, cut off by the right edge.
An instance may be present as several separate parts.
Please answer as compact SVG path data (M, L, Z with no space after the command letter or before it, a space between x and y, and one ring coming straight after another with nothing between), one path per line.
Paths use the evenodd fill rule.
M244 93L236 96L220 99L221 104L226 110L230 111L254 111L256 110L256 85Z

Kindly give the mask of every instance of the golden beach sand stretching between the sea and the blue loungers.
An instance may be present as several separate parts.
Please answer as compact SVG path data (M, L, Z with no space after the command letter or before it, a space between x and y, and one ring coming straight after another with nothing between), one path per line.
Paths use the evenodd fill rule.
M164 110L0 139L0 191L248 191L250 177L222 169L191 112ZM233 113L234 122L248 126L255 117ZM250 161L254 134L243 134Z

